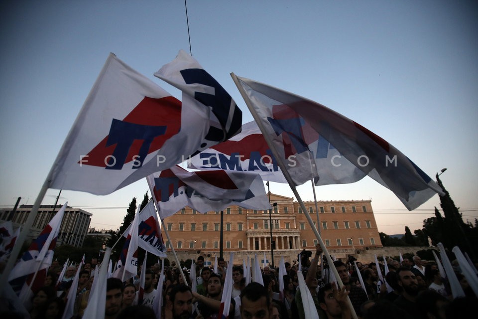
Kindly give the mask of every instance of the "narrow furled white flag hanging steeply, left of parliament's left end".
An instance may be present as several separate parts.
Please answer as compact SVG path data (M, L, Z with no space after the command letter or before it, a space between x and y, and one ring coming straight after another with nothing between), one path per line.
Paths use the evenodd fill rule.
M129 227L129 232L124 242L123 249L119 255L117 269L112 277L128 280L138 273L138 224L139 207Z

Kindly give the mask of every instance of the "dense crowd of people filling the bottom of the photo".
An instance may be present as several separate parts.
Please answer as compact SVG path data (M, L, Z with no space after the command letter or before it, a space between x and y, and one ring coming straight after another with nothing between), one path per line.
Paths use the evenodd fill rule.
M227 265L222 258L218 260L215 273L212 268L204 265L204 258L199 256L194 261L195 275L190 276L190 270L182 269L186 283L177 267L163 268L163 282L159 281L162 269L159 263L142 272L141 267L138 267L138 274L124 282L113 277L107 279L105 318L159 318L159 314L153 311L154 305L159 305L156 311L160 312L160 318L163 319L220 318L218 314L222 307L222 295L226 293L228 267L232 267L234 283L227 285L231 287L228 288L231 289L231 304L229 317L228 314L223 314L223 318L304 319L319 316L318 318L346 319L354 318L355 311L358 318L363 319L451 319L472 318L478 312L477 296L458 268L455 271L466 295L460 298L452 297L450 286L440 275L437 264L427 263L418 256L413 257L413 263L408 259L403 259L400 263L389 258L386 265L379 263L378 269L375 262L354 264L335 260L335 268L344 284L341 289L337 286L330 267L320 262L321 253L320 246L317 246L315 255L300 254L298 264L284 264L287 274L283 276L282 293L279 290L279 270L266 265L261 268L263 285L257 280L246 285L242 265ZM79 270L74 314L71 318L82 318L91 302L90 290L95 280L94 269L97 264L98 259L93 258ZM388 268L384 276L386 284L378 279L378 271L383 274L384 266ZM299 267L302 267L301 272ZM62 318L66 298L77 271L75 266L61 267L57 261L52 263L44 286L36 291L31 300L28 309L31 319ZM141 274L144 276L144 291L140 297L142 300L138 302ZM196 283L192 285L191 278L195 277ZM306 290L302 292L299 277L305 279ZM158 289L162 290L162 301L156 300ZM312 297L312 307L315 306L317 311L317 315L314 313L312 317L310 309L303 305L304 298L301 296L307 290ZM13 316L13 313L10 315Z

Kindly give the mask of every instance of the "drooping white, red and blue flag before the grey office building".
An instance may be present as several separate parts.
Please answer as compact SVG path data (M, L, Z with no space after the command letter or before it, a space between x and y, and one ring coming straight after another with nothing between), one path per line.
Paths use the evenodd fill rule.
M60 208L40 235L33 240L8 276L8 282L23 302L30 301L33 292L40 289L45 282L67 204L68 202Z

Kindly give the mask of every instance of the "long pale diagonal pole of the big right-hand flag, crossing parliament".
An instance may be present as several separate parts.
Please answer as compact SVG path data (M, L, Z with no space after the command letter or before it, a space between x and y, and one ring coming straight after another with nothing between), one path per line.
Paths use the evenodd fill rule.
M315 227L314 222L312 221L312 218L309 215L309 212L305 208L304 202L302 201L302 198L300 197L299 192L297 191L297 189L295 187L295 184L292 181L292 177L290 176L289 171L287 170L287 168L285 166L284 160L279 155L279 152L277 151L275 145L270 140L270 138L269 138L269 136L268 136L263 124L262 124L262 121L261 121L259 115L257 114L254 107L252 106L252 103L249 100L247 94L245 93L242 85L240 85L239 79L237 78L236 74L231 73L231 77L233 78L234 83L238 87L239 93L241 94L242 99L244 100L245 104L247 105L247 108L249 109L250 113L252 114L252 117L254 118L257 126L259 127L260 131L262 132L262 136L264 137L265 141L267 142L267 145L269 146L269 148L272 152L272 155L277 160L277 164L280 167L280 170L282 171L282 174L284 174L284 177L286 178L287 182L289 183L290 189L292 190L292 192L296 196L300 207L304 211L304 215L307 218L307 221L309 222L310 227L314 231L315 236L317 237L317 240L318 240L318 242L319 242L319 244L322 248L322 251L324 252L324 254L327 258L327 262L329 263L329 267L332 270L333 274L335 275L337 282L339 283L339 287L340 288L344 287L344 283L340 279L339 273L337 272L337 268L335 268L334 262L332 261L332 258L330 257L329 251L327 250L327 247L325 246L325 244L322 240L322 237L320 236L319 232L317 231L317 228ZM350 301L349 296L347 296L347 303L348 303L349 307L351 308L352 317L355 318L355 319L358 319L357 314L354 310L354 306L352 305L352 302Z

